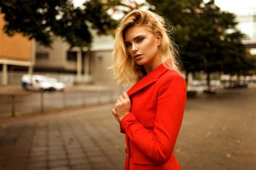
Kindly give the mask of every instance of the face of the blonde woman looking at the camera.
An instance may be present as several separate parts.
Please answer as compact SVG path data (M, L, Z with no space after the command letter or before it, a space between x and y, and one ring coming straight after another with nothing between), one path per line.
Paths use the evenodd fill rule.
M156 65L160 59L158 46L160 35L155 35L144 26L132 26L124 34L127 51L138 65Z

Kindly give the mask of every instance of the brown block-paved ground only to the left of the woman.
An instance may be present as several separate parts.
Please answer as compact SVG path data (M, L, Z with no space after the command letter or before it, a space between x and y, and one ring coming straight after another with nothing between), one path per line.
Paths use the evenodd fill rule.
M124 134L112 104L0 123L0 169L122 169Z

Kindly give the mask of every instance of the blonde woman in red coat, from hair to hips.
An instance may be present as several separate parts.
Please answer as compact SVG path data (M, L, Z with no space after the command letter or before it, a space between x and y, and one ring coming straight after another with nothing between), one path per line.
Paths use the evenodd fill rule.
M119 96L113 116L125 133L124 169L180 169L173 148L186 103L186 82L164 19L134 10L119 24L113 73L119 84L135 83Z

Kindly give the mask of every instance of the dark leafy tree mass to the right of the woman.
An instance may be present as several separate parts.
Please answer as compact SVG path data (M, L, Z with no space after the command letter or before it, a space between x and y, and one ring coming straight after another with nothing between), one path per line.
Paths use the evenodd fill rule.
M207 3L203 0L147 2L152 5L151 10L173 25L174 40L179 46L186 74L203 70L207 74L209 91L211 73L239 74L253 69L241 43L245 35L235 28L235 16L221 11L214 0Z

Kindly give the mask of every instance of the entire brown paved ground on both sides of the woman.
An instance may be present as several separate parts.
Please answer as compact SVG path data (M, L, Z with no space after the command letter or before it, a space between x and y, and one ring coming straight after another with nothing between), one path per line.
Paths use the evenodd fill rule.
M256 88L188 98L174 154L184 170L256 169ZM0 119L0 169L123 169L113 104Z

